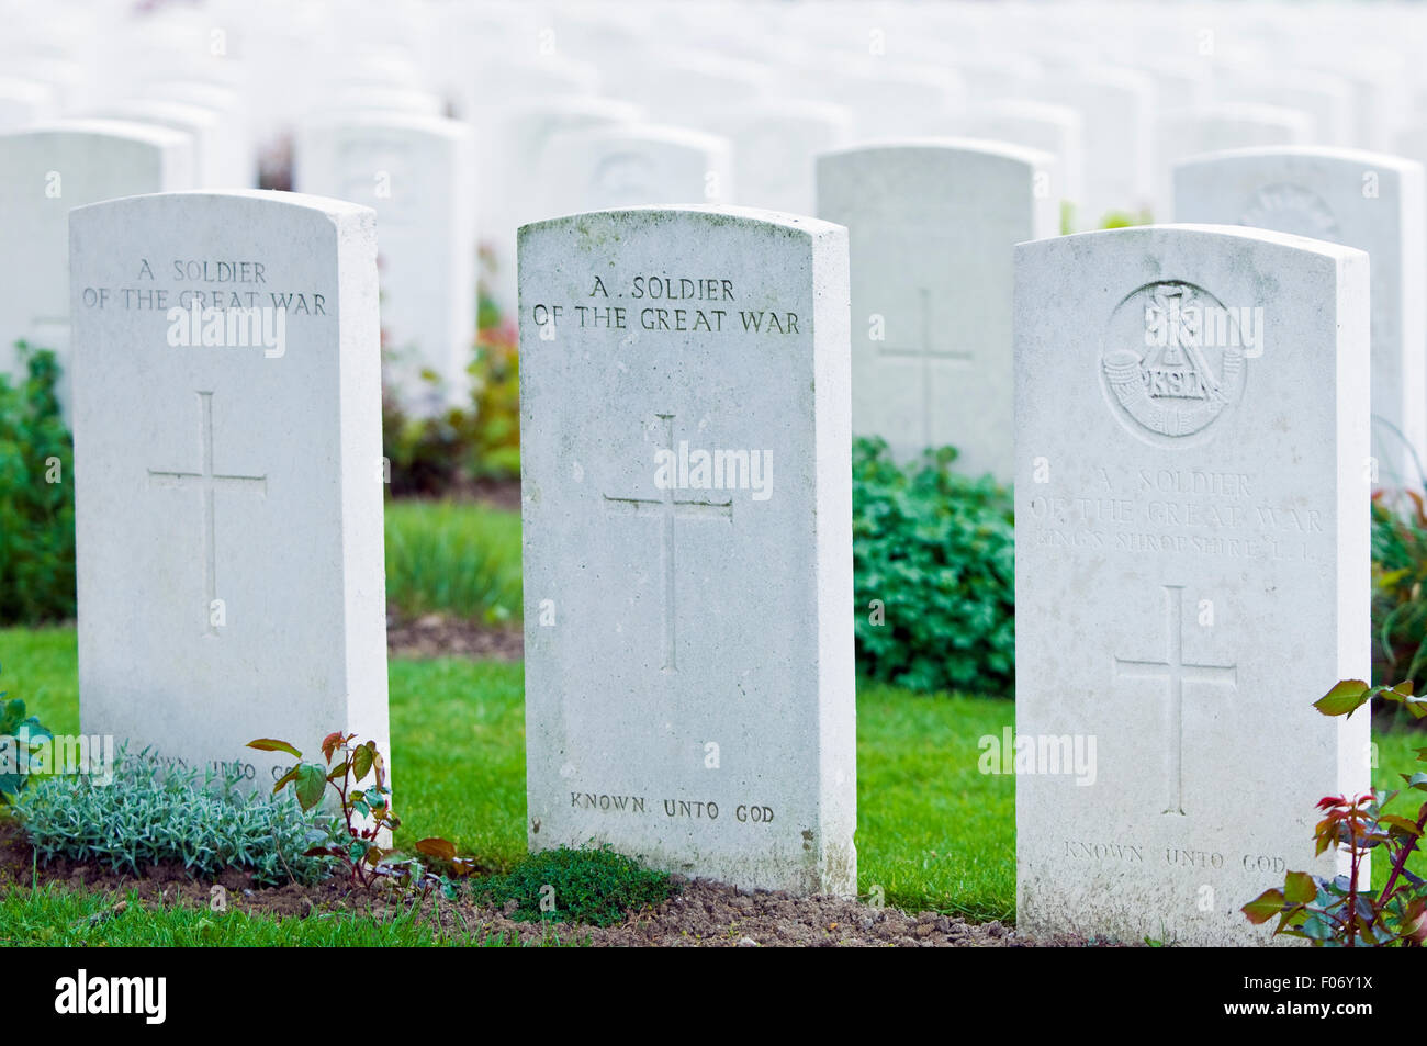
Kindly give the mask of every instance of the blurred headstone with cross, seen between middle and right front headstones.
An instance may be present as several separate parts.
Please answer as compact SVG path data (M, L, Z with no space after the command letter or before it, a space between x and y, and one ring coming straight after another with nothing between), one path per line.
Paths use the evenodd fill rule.
M1059 231L1046 153L949 138L818 163L818 217L852 250L852 431L902 461L953 445L1007 481L1012 250Z

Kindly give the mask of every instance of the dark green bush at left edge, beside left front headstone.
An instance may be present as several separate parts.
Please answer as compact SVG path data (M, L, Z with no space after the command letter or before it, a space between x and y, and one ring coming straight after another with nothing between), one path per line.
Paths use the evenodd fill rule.
M0 625L74 616L74 450L60 367L20 342L26 380L0 374Z

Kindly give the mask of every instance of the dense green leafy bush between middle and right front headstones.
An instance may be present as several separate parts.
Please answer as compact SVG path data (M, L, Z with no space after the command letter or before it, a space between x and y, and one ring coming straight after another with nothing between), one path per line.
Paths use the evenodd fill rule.
M1009 694L1015 678L1010 492L952 472L956 451L899 467L882 440L852 451L858 664L916 691Z

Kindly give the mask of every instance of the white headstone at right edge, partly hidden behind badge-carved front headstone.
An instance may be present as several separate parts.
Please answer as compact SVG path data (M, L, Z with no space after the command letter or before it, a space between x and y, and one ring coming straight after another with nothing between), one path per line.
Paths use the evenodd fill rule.
M1333 148L1234 150L1174 168L1174 218L1256 225L1364 250L1373 268L1376 482L1427 468L1427 200L1414 160Z

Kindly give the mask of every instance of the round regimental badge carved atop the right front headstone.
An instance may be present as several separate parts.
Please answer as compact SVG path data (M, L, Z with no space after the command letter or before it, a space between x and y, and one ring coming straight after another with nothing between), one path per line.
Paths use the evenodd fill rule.
M1146 284L1110 317L1100 370L1122 421L1170 440L1193 435L1243 395L1239 320L1202 287Z

